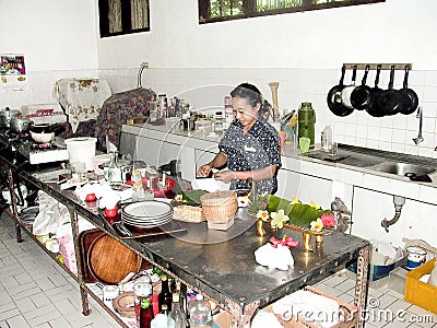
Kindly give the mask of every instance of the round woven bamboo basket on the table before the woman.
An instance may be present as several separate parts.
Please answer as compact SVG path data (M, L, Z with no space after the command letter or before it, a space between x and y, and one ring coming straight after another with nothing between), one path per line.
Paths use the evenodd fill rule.
M223 223L234 218L238 209L237 192L215 191L200 197L202 216L211 223Z

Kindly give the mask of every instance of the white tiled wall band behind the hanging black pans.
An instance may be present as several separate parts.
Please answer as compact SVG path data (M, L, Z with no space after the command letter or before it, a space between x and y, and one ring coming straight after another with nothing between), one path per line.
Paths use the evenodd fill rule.
M52 102L51 87L56 80L62 78L101 77L106 79L113 92L137 87L138 69L88 70L88 71L44 71L28 73L28 89L21 92L0 91L0 107L20 107L23 104ZM345 84L351 83L352 72L347 71ZM361 83L363 72L357 73ZM389 71L381 72L379 86L387 87ZM187 97L194 109L205 104L222 106L224 90L229 90L240 82L256 84L264 97L271 99L268 82L277 81L279 105L281 110L297 109L302 102L311 102L317 113L316 139L320 141L320 131L326 124L333 127L334 139L338 142L436 157L437 145L437 71L410 72L409 86L420 98L423 108L424 142L415 145L412 139L417 136L418 119L415 114L394 115L375 118L366 112L355 110L347 117L334 116L327 106L327 93L339 83L340 68L333 69L293 69L293 68L151 68L144 70L142 85L152 87L157 93L169 96ZM375 72L370 72L368 84L374 85ZM403 72L397 71L394 87L402 87ZM206 96L208 95L208 96Z

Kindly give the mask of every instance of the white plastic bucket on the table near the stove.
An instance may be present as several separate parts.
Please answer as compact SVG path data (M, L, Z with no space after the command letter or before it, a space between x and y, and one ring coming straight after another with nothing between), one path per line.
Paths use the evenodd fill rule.
M70 163L83 162L86 171L94 171L97 138L78 137L66 140Z

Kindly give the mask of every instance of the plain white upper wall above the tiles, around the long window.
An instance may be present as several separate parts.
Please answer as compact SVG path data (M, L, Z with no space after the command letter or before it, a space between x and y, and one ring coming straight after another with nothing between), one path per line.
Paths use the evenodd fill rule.
M96 0L95 0L96 1ZM151 32L98 39L101 69L340 68L343 62L412 62L437 69L435 0L199 25L198 0L150 0Z

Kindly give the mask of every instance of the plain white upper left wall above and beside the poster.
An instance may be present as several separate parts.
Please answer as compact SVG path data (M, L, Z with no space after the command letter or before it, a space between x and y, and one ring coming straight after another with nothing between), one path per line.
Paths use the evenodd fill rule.
M93 0L0 0L0 54L24 54L27 71L97 68Z

